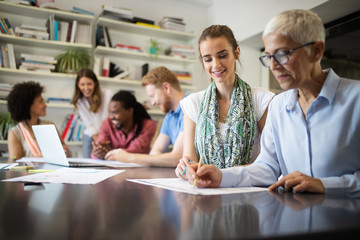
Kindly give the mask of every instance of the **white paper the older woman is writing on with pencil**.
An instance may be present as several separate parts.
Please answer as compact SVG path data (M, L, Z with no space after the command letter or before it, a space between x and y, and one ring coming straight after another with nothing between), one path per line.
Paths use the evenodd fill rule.
M188 181L179 178L155 178L155 179L127 179L130 182L165 188L172 191L189 193L194 195L222 195L247 192L267 191L267 188L260 187L239 187L239 188L198 188L189 184Z

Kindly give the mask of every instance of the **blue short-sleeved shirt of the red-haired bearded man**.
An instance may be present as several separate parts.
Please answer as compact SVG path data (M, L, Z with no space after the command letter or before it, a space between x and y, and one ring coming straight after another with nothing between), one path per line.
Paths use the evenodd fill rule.
M175 111L169 111L163 120L160 133L168 135L172 145L175 145L176 139L180 132L184 131L184 112L180 104Z

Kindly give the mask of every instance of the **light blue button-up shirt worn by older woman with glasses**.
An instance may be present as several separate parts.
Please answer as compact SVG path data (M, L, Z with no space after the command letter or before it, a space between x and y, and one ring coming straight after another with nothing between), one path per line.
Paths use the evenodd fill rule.
M360 81L328 74L304 117L298 90L274 97L261 152L248 167L223 169L222 187L269 186L299 171L319 178L325 193L360 193Z

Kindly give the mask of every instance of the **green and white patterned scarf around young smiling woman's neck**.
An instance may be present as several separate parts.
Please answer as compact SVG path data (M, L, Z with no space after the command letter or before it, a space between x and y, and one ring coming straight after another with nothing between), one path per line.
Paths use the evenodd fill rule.
M195 148L205 164L221 169L249 163L256 124L251 98L250 86L236 75L221 143L215 82L206 89L195 129Z

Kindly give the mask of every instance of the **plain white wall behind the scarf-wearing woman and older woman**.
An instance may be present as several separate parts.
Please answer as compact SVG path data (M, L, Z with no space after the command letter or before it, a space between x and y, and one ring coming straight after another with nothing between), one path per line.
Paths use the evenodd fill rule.
M210 24L228 25L235 38L243 42L260 34L266 23L276 14L288 9L311 9L326 0L214 0L208 10ZM268 88L262 79L262 66L258 60L260 49L240 44L241 78L251 86Z

